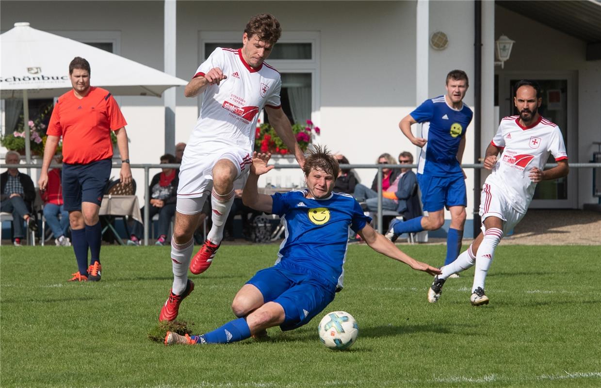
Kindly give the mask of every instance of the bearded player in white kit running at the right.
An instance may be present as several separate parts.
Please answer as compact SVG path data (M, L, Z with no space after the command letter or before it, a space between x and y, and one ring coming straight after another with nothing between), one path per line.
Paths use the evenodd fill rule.
M540 86L531 80L516 83L514 104L519 116L505 117L486 149L484 168L492 170L480 198L482 232L456 261L441 268L428 290L428 302L438 301L442 285L453 273L476 265L472 286L472 305L487 305L484 279L495 256L496 246L526 214L536 184L565 177L569 172L566 147L557 125L538 114ZM497 154L502 152L501 158ZM543 171L552 154L557 166Z

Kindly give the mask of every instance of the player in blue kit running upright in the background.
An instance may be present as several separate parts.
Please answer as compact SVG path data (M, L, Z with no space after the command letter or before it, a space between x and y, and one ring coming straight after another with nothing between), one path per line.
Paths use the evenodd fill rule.
M461 168L465 150L465 131L474 113L463 103L468 90L468 75L462 70L447 74L447 94L426 100L398 124L407 139L421 147L417 180L427 216L406 222L393 220L386 237L392 241L403 233L433 231L445 222L444 208L451 212L447 235L445 265L453 262L461 250L465 207L465 173ZM421 138L411 132L411 126L421 124Z

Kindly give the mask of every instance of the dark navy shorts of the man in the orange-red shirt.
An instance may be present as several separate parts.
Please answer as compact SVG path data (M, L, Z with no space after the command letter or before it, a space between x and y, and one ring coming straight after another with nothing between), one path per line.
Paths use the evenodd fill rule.
M63 201L67 211L81 210L81 202L99 205L111 176L112 160L103 159L87 165L63 163Z

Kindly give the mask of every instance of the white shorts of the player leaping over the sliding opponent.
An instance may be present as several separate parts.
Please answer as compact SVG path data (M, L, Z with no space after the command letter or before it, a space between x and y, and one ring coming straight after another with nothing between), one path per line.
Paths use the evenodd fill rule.
M180 183L177 186L177 211L184 214L200 213L203 210L204 199L213 190L213 167L220 159L234 163L237 169L236 179L248 174L252 156L248 150L229 147L215 150L212 153L194 153L186 147L182 166L180 167ZM180 199L196 198L195 201L180 201ZM184 205L186 203L186 205Z

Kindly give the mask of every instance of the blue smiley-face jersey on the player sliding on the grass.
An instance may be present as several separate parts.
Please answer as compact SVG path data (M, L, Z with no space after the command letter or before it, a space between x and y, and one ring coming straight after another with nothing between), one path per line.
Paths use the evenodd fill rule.
M305 195L307 190L272 195L272 212L285 228L276 265L301 267L342 288L349 227L360 231L371 218L349 194L332 193L325 199Z

